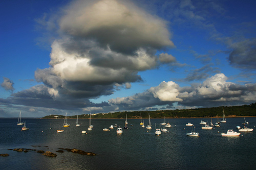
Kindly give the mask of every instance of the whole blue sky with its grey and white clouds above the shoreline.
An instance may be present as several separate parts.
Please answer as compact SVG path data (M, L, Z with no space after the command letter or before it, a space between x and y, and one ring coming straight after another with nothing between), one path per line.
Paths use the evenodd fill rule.
M256 1L1 1L0 117L256 102Z

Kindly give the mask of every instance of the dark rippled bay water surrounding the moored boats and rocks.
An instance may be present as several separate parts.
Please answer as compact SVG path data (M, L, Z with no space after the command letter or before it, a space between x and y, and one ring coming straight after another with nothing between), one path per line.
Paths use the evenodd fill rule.
M124 119L92 119L94 126L88 131L89 119L68 119L71 124L63 133L57 133L63 119L26 119L28 131L20 131L17 119L0 119L1 169L255 169L256 166L256 117L248 117L254 132L243 132L239 137L222 137L221 133L241 126L244 118L227 118L227 123L212 130L201 129L200 118L166 119L172 128L168 133L155 135L155 123L163 119L151 119L152 130L143 129L140 119L128 119L129 129L117 135L116 128L103 131L110 125L124 126ZM210 122L210 119L203 119ZM217 119L212 119L215 123ZM144 119L145 125L148 119ZM199 137L186 136L196 126ZM131 126L131 124L133 126ZM185 129L184 129L185 128ZM86 130L88 134L81 134ZM40 145L41 147L32 147ZM19 153L8 149L29 148L51 151L57 157L51 158L29 151ZM94 152L97 156L79 155L71 152L58 153L58 148L80 149Z

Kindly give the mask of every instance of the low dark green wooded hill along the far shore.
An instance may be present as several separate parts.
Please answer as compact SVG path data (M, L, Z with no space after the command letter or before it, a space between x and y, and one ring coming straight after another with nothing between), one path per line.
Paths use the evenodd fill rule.
M148 117L150 113L151 118L193 118L193 117L222 117L222 108L224 109L225 116L256 116L256 103L243 106L220 106L212 108L199 108L199 109L181 109L181 110L155 110L155 111L124 111L115 113L97 113L92 114L92 118L140 118ZM63 115L49 115L42 118L65 118ZM78 118L89 118L90 114L78 115ZM76 118L74 116L67 116L67 118Z

